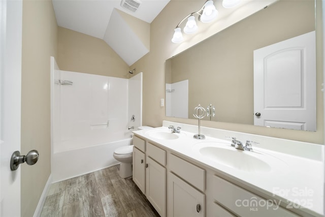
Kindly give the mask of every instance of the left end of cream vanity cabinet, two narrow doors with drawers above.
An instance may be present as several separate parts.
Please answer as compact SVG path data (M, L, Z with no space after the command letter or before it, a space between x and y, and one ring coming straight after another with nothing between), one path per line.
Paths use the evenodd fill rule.
M160 216L166 216L166 150L134 137L133 180Z

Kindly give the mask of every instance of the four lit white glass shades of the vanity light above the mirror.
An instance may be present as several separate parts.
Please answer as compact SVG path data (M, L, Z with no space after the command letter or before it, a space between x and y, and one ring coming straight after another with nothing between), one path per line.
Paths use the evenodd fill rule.
M232 8L235 7L236 5L238 5L238 3L240 2L240 0L223 0L222 1L222 6L224 8ZM193 12L188 14L186 17L184 17L184 19L182 19L177 26L174 29L174 35L172 38L172 42L173 43L180 43L183 41L183 34L182 34L182 30L179 27L179 25L187 19L186 25L183 29L183 32L185 34L194 34L197 32L198 30L198 25L197 22L195 20L194 14L198 14L199 16L199 21L203 22L203 23L209 23L211 21L213 21L217 16L218 16L218 11L217 9L214 7L213 1L212 0L207 0L204 5L202 6L202 8L197 11L197 12Z

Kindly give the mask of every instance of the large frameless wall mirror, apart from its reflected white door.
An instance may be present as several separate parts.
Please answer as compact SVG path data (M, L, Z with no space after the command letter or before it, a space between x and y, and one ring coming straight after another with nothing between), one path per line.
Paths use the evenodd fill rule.
M205 108L212 105L215 116L206 116L205 120L254 125L254 51L314 31L314 1L281 0L168 59L166 115L194 118L193 109L198 104ZM315 56L315 51L313 52ZM301 55L306 53L302 51ZM287 60L282 62L287 63ZM301 67L304 67L303 65L301 63ZM315 71L315 63L313 67ZM302 76L300 82L304 83L305 78ZM272 83L282 88L290 80L286 79L281 82L283 78L276 78ZM316 104L315 75L312 79L313 86L297 89L304 92L306 88L313 88L314 96L309 98L313 98ZM305 96L298 98L306 102ZM310 116L316 120L316 109L310 112ZM277 124L270 127L286 128ZM288 128L316 131L316 127Z

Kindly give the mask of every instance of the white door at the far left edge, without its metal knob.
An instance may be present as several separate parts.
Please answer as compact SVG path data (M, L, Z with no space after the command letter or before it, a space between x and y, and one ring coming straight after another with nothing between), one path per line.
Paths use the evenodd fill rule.
M20 169L10 159L20 151L22 1L0 1L1 216L20 214Z

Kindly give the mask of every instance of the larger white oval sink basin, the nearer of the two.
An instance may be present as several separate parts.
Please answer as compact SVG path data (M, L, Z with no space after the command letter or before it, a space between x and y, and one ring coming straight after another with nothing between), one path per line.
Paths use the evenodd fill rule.
M268 154L239 150L226 143L201 142L193 150L216 163L245 172L271 172L275 166L285 164Z

